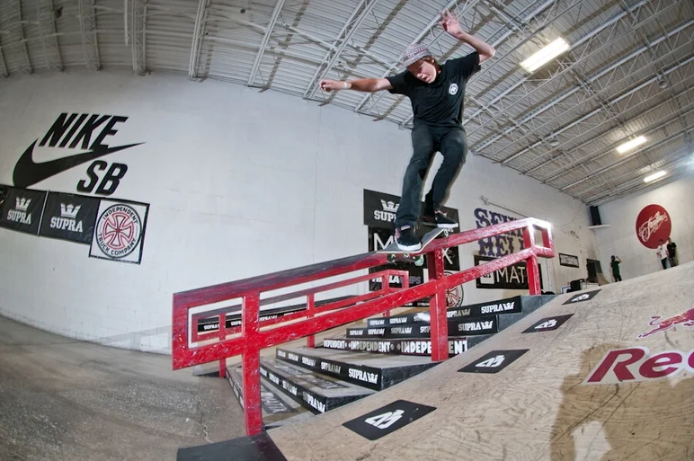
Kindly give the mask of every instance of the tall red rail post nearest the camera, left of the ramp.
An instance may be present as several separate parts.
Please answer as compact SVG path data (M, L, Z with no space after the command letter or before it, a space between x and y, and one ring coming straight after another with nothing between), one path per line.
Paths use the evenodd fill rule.
M262 432L262 407L260 395L260 293L244 297L242 310L244 372L244 420L245 434L252 436Z

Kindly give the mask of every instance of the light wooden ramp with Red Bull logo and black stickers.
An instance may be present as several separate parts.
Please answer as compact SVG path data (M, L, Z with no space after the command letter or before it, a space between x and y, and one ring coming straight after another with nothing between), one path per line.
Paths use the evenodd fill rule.
M402 384L268 435L289 461L694 460L694 263L558 296Z

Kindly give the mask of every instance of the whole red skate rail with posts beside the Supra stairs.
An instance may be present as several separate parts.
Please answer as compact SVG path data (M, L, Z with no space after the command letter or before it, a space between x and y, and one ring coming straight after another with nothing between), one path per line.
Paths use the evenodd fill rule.
M541 245L535 241L536 229L542 235ZM521 251L457 273L447 275L444 272L443 251L447 248L518 230L522 230L523 233L523 249ZM302 289L261 300L262 293L387 264L387 255L384 253L363 253L331 262L320 262L293 270L283 270L250 279L176 293L173 295L173 369L219 361L220 376L224 377L225 360L241 355L245 428L248 435L254 435L262 431L260 395L260 351L262 349L303 337L307 337L309 345L312 345L312 338L316 333L387 313L393 308L430 297L432 360L448 359L447 290L479 279L504 267L526 262L529 294L538 295L540 294L538 257L552 258L555 253L549 223L529 217L437 239L426 248L426 255L429 280L415 287L407 285L409 275L406 271L382 270L377 273L343 279L319 287ZM402 288L390 286L389 278L393 275L402 280ZM343 288L373 279L381 280L380 289L330 302L320 307L315 306L315 296L319 292ZM261 305L296 297L307 297L305 310L260 322ZM217 332L205 335L205 341L210 343L191 343L191 334L189 334L191 309L236 298L242 300L241 326L227 328L226 311L213 311L215 314L211 315L218 315L219 328ZM210 314L208 312L205 315L209 316ZM200 335L195 335L195 338L201 339Z

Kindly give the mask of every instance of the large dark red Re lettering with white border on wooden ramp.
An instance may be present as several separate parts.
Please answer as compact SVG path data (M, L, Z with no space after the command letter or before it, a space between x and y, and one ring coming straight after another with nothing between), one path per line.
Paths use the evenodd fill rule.
M687 369L694 374L694 350L667 350L653 356L645 347L610 350L583 381L584 385L637 383L672 377Z

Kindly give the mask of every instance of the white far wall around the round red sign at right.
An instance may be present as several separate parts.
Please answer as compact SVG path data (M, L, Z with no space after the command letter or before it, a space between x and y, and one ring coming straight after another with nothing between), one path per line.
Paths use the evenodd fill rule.
M672 242L677 244L680 264L694 259L694 172L681 179L638 195L609 202L600 207L602 224L595 229L600 246L602 270L609 276L609 260L617 255L622 263L622 279L632 279L663 270L655 250L646 248L636 237L636 217L647 205L665 208L671 217Z

